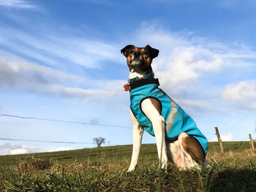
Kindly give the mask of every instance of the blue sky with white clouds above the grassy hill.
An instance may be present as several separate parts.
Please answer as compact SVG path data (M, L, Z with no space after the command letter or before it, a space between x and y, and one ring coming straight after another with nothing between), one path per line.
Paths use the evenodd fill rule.
M1 0L0 154L132 144L128 44L159 49L160 87L216 140L255 137L256 3L200 0ZM155 142L144 134L143 143Z

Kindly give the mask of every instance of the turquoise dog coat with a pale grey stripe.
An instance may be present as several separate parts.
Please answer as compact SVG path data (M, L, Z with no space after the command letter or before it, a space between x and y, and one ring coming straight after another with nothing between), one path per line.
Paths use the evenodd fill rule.
M154 79L156 80L156 79ZM154 129L151 121L141 110L141 102L147 98L154 98L162 105L161 115L165 119L166 128L170 128L165 139L174 141L178 139L178 135L185 132L192 137L195 137L200 145L203 147L205 155L208 150L208 142L206 137L197 128L195 121L187 115L181 107L178 106L165 92L158 88L157 84L142 85L133 88L130 91L130 108L137 118L138 123L144 130L154 136Z

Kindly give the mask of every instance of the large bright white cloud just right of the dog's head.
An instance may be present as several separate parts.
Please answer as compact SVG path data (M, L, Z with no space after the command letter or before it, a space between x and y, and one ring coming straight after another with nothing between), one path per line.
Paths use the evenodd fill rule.
M165 87L195 82L207 72L217 73L244 59L256 58L256 53L247 47L224 45L189 33L174 34L157 25L143 26L136 35L140 45L150 44L160 50L152 66Z

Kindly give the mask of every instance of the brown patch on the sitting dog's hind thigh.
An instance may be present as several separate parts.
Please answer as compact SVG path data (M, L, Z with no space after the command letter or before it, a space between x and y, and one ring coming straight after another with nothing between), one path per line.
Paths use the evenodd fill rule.
M203 147L195 137L189 135L188 137L182 138L181 145L184 150L191 155L192 159L197 162L197 164L203 165L203 161L205 159Z

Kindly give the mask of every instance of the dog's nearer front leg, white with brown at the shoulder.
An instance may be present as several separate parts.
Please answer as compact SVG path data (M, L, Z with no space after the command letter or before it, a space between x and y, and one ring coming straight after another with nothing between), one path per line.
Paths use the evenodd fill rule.
M153 125L160 167L166 169L168 159L165 145L165 119L160 114L159 101L156 99L145 99L141 103L141 109Z

